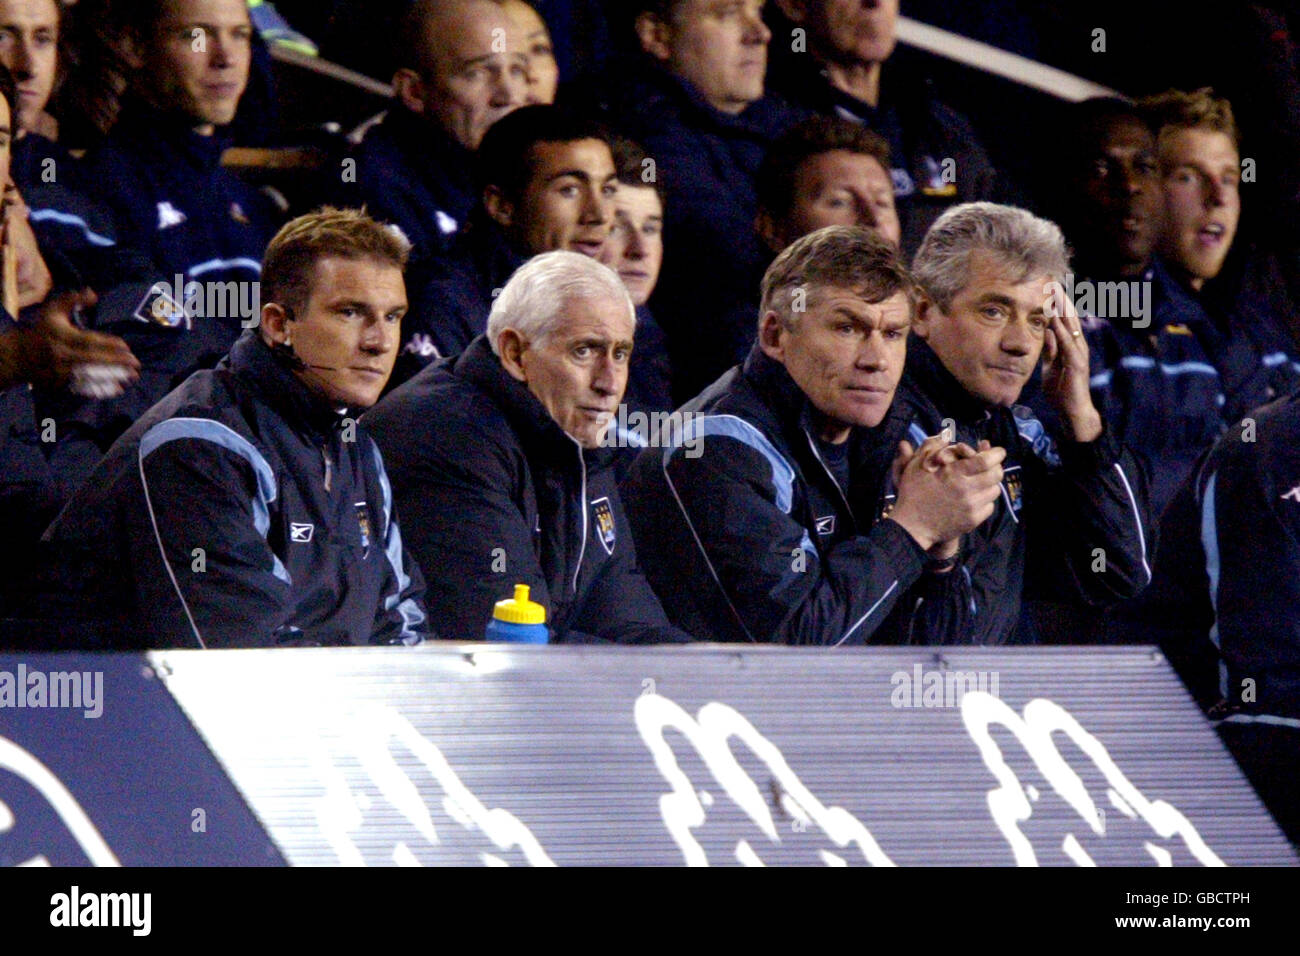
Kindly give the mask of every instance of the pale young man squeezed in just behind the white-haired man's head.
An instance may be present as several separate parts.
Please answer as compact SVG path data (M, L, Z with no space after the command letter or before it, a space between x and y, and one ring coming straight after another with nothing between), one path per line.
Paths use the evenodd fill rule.
M612 148L619 190L614 195L614 228L601 260L619 273L632 304L637 307L637 338L628 372L627 405L636 411L672 411L668 345L646 304L663 265L664 190L654 161L640 146L620 137L614 140Z

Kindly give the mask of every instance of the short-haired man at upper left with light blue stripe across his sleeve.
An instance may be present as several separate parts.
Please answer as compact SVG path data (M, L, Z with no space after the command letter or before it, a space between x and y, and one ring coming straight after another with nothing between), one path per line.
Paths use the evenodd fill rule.
M261 254L278 213L221 168L225 126L248 78L247 5L153 0L130 9L131 96L83 177L109 206L117 241L161 276L135 308L131 339L157 401L256 323Z

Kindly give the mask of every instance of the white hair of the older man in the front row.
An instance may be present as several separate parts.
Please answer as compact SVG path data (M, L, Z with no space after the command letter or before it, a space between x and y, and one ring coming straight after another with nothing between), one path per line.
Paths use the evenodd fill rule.
M610 299L627 307L633 328L637 310L619 273L578 252L542 252L515 269L488 316L488 343L515 329L530 342L545 342L564 317L573 299Z

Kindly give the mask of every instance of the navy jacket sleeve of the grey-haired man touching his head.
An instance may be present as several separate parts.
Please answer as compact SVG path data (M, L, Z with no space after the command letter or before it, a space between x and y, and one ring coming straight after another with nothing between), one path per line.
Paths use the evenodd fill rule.
M1138 458L1109 427L1091 442L1024 445L1026 593L1106 605L1145 588L1153 541Z

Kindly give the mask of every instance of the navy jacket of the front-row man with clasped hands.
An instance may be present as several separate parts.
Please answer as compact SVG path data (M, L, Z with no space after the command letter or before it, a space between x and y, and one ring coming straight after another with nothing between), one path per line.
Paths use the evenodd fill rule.
M758 347L681 412L623 484L673 623L701 640L797 645L966 631L970 580L927 571L920 546L885 520L905 420L853 431L845 488L824 464L807 399Z

